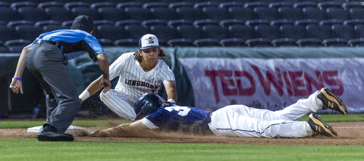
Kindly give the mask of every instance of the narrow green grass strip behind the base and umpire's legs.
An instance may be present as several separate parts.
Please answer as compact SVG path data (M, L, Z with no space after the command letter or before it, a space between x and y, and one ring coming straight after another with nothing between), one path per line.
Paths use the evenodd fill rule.
M0 129L4 128L28 128L43 125L44 121L1 121ZM71 125L80 127L99 127L99 126L110 126L119 125L122 123L130 123L130 121L122 119L112 120L74 120Z

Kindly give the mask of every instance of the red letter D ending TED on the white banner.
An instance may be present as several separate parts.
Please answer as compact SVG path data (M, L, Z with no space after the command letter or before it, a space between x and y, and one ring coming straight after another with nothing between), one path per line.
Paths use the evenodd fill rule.
M235 76L245 76L250 81L250 88L243 89L241 79L237 79L237 85L239 89L239 95L253 95L255 93L255 81L252 75L246 71L235 71Z

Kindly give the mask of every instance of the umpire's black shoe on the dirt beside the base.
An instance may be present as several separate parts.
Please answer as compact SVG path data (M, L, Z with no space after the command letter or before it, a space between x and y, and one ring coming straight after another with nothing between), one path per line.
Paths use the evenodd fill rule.
M61 133L51 125L44 124L37 135L37 139L39 141L73 141L74 137L70 134Z

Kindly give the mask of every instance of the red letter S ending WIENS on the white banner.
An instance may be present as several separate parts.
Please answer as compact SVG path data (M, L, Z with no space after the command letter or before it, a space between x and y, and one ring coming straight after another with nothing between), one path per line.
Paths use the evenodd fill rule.
M337 70L335 71L323 71L322 72L323 79L325 83L331 86L339 86L339 89L331 89L332 93L335 95L342 95L344 92L343 82L340 79L337 79ZM335 77L335 78L329 78Z

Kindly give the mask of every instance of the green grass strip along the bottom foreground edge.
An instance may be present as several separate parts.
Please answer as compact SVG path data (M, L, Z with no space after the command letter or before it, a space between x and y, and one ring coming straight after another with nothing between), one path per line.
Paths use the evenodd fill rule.
M0 139L0 160L363 160L364 146L275 146Z

